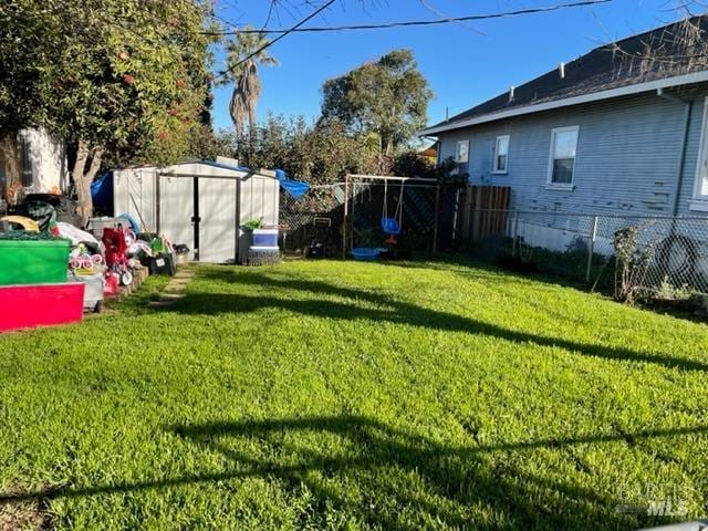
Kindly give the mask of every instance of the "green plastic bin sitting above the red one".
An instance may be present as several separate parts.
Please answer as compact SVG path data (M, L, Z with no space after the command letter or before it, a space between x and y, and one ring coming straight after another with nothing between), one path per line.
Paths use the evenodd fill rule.
M69 240L0 240L0 285L66 282Z

